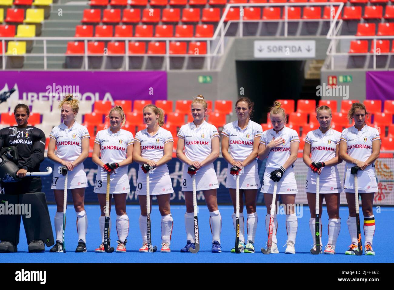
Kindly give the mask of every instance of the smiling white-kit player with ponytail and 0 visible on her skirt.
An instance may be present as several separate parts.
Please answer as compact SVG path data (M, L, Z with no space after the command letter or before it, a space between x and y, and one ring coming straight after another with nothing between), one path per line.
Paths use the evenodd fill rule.
M150 204L152 197L156 196L159 211L162 215L162 249L161 252L169 253L173 217L170 210L170 197L174 192L167 167L167 162L172 158L174 139L171 133L165 130L163 110L153 104L146 105L143 109L143 119L147 128L137 132L134 137L133 160L142 165L138 171L137 190L141 215L139 216L139 229L142 236L140 252L148 252L147 238L147 187L144 165L152 167L149 170Z

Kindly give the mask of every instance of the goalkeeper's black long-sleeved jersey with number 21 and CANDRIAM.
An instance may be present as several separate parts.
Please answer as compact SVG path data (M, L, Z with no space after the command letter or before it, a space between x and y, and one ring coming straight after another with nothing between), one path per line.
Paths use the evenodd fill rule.
M18 167L28 172L39 171L44 160L45 134L33 126L24 128L6 127L0 130L0 148L15 146L18 148Z

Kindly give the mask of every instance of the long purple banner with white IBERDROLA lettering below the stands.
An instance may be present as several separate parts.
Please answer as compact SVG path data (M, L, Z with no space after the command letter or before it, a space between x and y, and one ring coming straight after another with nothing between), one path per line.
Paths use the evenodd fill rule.
M0 92L16 88L10 99L32 101L79 95L84 101L167 99L165 71L0 71Z

